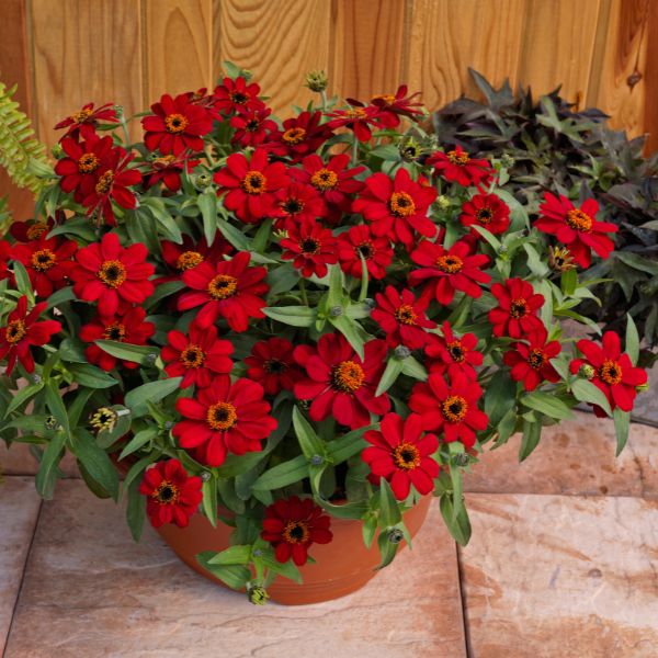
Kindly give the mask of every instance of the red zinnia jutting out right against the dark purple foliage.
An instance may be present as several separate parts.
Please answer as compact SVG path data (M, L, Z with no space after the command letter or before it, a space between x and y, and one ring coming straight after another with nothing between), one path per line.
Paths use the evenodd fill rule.
M603 259L610 257L614 242L605 234L616 232L619 227L594 219L599 204L593 198L588 198L579 211L561 194L559 201L549 192L544 194L544 198L546 203L540 206L544 215L534 223L535 228L567 245L574 260L582 268L589 268L592 249Z

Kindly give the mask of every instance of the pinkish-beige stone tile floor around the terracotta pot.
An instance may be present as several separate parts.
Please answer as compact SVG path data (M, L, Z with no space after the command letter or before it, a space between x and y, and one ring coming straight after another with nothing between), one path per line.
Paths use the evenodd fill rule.
M3 658L658 658L658 429L579 412L485 453L466 480L473 524L458 548L438 507L363 590L329 603L254 606L204 580L151 529L75 478L33 490L24 451L0 453ZM67 473L75 475L75 463Z

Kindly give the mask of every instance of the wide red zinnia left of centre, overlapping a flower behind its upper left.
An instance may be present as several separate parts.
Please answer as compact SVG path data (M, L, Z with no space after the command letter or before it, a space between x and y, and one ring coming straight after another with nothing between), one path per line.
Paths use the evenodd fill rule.
M183 272L183 282L193 288L179 299L179 310L189 310L204 305L196 316L200 329L215 324L224 316L234 331L246 331L249 318L264 318L261 308L266 304L264 295L270 286L263 282L265 268L250 268L249 252L240 251L230 261L216 265L201 263Z

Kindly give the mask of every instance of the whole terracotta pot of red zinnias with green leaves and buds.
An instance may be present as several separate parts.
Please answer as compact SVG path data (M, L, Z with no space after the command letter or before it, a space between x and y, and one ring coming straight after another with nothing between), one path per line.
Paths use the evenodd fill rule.
M586 401L623 447L632 319L626 354L609 332L575 360L559 327L615 227L551 195L531 224L509 160L438 150L405 87L344 104L314 71L319 102L281 122L225 66L134 117L87 105L54 168L31 160L34 218L0 242L0 431L43 498L71 451L135 541L148 518L206 578L309 603L411 547L432 496L467 543L487 443L521 434L524 460Z

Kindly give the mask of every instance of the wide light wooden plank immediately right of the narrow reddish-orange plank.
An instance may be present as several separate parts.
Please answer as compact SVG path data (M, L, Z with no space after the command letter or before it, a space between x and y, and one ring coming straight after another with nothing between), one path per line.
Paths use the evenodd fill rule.
M462 93L484 97L468 67L496 88L515 89L524 0L408 0L401 82L438 110Z

